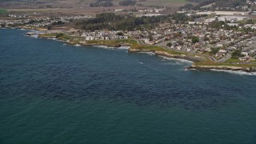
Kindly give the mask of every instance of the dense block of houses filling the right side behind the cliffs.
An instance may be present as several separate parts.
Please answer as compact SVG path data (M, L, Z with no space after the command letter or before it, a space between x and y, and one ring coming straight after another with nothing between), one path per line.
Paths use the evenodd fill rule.
M130 33L149 45L165 46L191 53L206 53L212 48L219 48L220 50L215 55L216 58L223 58L226 54L231 54L233 50L242 48L244 58L248 59L256 51L256 39L251 34L235 30L214 30L206 25L166 24L154 30ZM193 43L193 37L198 37L199 41ZM166 46L168 42L171 43L170 46ZM251 43L250 49L247 45L242 45L243 42Z

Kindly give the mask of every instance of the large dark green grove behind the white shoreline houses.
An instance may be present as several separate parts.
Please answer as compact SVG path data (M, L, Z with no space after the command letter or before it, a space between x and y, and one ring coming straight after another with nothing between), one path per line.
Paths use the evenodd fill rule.
M131 15L116 15L113 13L97 14L90 18L75 22L75 26L82 30L142 30L153 29L158 22L168 21L168 16L154 16L137 18Z

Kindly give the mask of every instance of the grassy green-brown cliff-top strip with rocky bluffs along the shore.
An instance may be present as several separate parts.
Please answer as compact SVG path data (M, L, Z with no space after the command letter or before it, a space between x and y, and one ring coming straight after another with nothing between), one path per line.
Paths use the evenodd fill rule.
M33 30L33 29L26 29L26 30ZM40 33L40 30L38 30L38 33ZM139 45L138 41L134 39L82 41L78 37L75 37L77 38L75 39L68 35L64 35L58 38L57 34L38 34L38 38L50 38L50 39L62 41L62 42L65 42L66 44L74 45L74 46L106 46L110 48L130 46L130 48L128 49L129 53L150 52L155 55L163 56L166 58L183 59L186 61L193 62L191 66L184 68L186 70L196 69L196 70L231 70L231 71L243 71L246 73L256 72L256 66L251 66L250 64L247 64L246 66L237 66L237 65L226 66L226 64L224 63L216 62L213 65L211 64L204 65L203 62L207 61L207 58L205 57L201 57L196 54L194 55L186 54L186 53L176 54L176 52L163 49L160 46Z

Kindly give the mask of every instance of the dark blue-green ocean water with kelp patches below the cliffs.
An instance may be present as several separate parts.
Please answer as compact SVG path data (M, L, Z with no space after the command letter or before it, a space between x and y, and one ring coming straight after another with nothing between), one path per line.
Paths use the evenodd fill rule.
M256 143L256 76L0 30L0 143Z

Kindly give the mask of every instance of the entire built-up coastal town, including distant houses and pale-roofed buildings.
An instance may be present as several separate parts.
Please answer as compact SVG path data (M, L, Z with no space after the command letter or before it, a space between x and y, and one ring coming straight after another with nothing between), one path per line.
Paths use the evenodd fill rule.
M158 17L154 14L164 9L138 10L145 14L138 17ZM116 10L122 11L122 10ZM94 30L80 29L62 30L70 36L79 36L86 41L116 40L134 38L138 42L150 46L162 46L168 50L176 50L191 54L210 55L214 61L224 61L230 58L234 50L241 50L240 62L250 62L256 54L256 24L250 18L250 12L244 11L177 11L187 17L196 17L194 21L165 22L154 26L151 30ZM40 14L39 14L40 15ZM72 15L59 17L32 18L29 14L9 14L10 20L0 21L1 26L26 26L27 28L42 28L42 33L56 33L62 24L72 23L79 19L90 19L90 15ZM220 27L213 27L221 22ZM242 23L246 22L246 23ZM250 22L250 23L248 23ZM193 40L195 38L195 40Z

